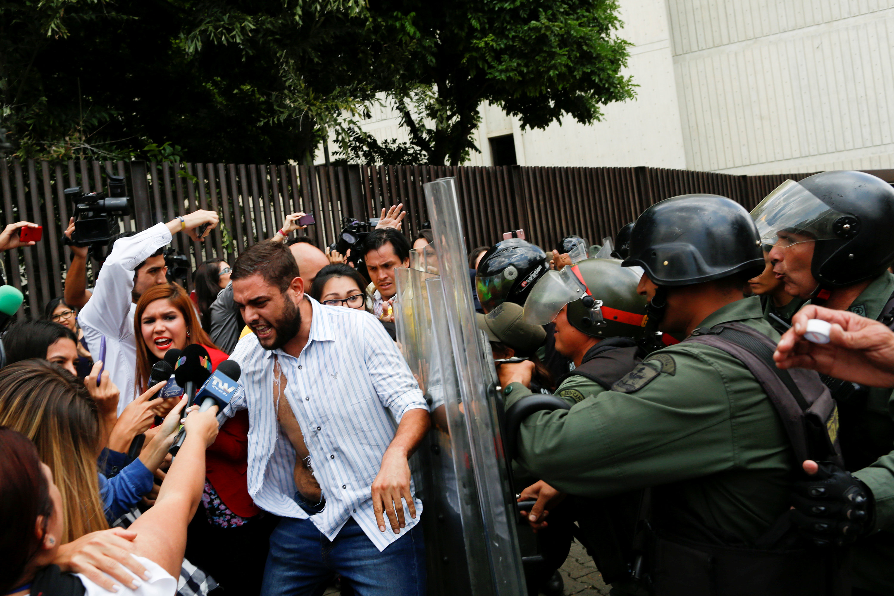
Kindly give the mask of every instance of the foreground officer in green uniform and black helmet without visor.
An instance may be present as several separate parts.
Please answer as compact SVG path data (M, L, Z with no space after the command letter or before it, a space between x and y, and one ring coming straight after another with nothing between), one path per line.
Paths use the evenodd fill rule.
M763 269L761 252L754 222L728 198L649 207L623 264L645 270L647 330L687 340L649 354L611 390L519 427L517 461L560 491L599 498L653 487L644 520L654 532L643 567L631 571L656 594L840 593L830 558L776 531L788 521L797 454L834 458L828 434L796 440L803 420L778 408L802 412L804 402L830 424L834 407L815 374L792 372L794 389L773 384L782 378L772 365L779 334L760 300L742 293ZM526 396L526 374L519 366L505 379L506 407Z

